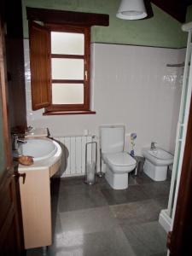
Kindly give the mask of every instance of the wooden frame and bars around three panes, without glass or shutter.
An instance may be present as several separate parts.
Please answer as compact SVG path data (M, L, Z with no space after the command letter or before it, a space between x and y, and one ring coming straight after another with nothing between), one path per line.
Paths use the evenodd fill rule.
M84 60L84 79L52 79L50 84L51 104L45 108L45 113L56 111L90 111L90 26L64 26L46 24L49 30L49 52L50 58L73 58ZM84 34L84 55L52 55L51 54L51 32L76 32ZM84 103L83 104L53 104L52 103L52 84L84 84Z

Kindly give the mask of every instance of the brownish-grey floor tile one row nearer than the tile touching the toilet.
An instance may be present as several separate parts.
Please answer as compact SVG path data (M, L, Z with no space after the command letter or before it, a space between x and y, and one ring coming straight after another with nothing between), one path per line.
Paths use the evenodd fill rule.
M146 200L111 206L110 210L120 225L131 225L158 220L161 207L154 200Z

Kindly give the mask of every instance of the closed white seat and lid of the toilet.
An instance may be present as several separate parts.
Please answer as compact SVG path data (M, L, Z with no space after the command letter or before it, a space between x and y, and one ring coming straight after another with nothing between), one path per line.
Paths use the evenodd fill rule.
M131 172L136 167L136 160L127 152L102 154L103 160L113 172Z

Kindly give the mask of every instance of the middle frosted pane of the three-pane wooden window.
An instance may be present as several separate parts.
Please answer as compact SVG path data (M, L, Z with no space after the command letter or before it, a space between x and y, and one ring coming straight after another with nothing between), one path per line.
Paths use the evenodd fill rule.
M84 79L84 60L52 58L52 79Z

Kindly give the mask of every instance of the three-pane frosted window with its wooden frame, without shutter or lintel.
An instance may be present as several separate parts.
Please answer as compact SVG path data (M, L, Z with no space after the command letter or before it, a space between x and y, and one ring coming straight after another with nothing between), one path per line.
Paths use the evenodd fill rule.
M90 27L49 26L52 106L90 110Z

